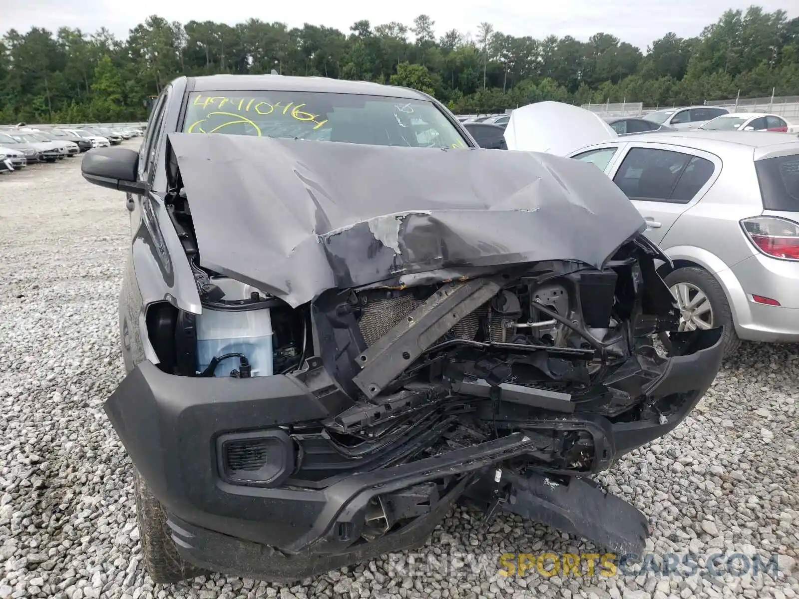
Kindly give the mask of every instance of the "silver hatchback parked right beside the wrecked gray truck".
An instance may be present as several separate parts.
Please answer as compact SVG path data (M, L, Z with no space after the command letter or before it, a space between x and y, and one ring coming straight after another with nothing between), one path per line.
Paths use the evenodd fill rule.
M632 200L674 260L681 328L799 341L799 139L698 131L616 138L570 153Z

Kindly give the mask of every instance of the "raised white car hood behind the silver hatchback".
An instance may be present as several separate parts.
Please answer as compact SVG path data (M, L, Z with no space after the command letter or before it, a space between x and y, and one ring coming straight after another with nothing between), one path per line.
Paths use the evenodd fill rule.
M618 137L602 117L562 102L536 102L515 109L505 129L508 149L557 156Z

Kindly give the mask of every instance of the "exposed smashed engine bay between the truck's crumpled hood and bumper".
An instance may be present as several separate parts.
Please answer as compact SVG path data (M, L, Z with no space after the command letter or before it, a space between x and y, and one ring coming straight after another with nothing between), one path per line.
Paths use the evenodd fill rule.
M540 436L540 470L593 471L606 463L586 418L667 416L647 403L642 387L662 375L666 361L651 335L675 327L677 315L654 268L662 255L645 238L623 244L602 269L548 260L412 285L397 276L291 307L252 288L226 293L231 281L198 265L188 202L169 208L204 314L168 303L149 311L159 367L174 375L247 378L259 370L252 347L261 343L262 351L268 338L271 362L260 370L296 377L336 414L321 426L289 431L304 455L291 479L296 484L519 430ZM205 315L214 315L214 331L225 338L217 323L243 312L268 317L268 335L227 335L223 340L236 343L220 345L225 353L211 367L198 365Z

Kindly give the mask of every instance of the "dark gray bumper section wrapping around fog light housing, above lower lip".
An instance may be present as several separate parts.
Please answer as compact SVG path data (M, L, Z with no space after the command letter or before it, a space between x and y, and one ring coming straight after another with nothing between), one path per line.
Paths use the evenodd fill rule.
M141 363L105 403L130 458L166 509L185 522L289 552L337 553L359 536L359 514L380 492L479 470L530 449L523 434L375 472L351 474L325 489L263 488L224 482L216 438L327 416L287 376L252 379L167 375ZM362 521L363 518L360 518ZM350 522L350 537L330 534Z

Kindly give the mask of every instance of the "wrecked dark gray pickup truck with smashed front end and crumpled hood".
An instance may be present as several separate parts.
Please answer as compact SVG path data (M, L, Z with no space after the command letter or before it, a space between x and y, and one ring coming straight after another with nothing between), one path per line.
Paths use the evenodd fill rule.
M131 216L105 411L154 581L324 573L459 498L642 550L590 476L686 417L721 330L658 354L669 260L594 165L477 149L411 89L223 75L82 172Z

